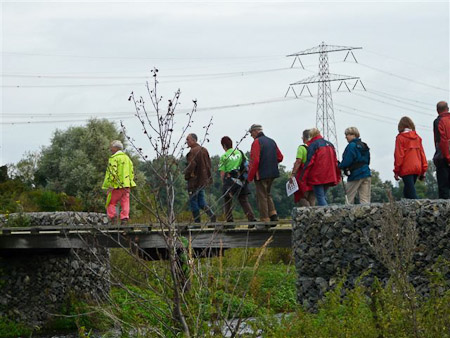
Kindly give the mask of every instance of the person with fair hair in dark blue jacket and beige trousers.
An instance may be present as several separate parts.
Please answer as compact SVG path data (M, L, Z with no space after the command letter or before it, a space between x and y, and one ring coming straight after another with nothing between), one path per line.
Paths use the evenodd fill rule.
M367 144L361 141L356 127L345 129L345 138L348 145L342 155L339 168L348 176L348 202L353 204L355 196L358 194L361 204L370 203L370 149Z

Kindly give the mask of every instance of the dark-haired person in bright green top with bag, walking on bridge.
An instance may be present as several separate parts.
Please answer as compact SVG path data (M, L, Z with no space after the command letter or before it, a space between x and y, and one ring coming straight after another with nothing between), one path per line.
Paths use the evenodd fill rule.
M233 149L233 141L228 136L220 140L225 154L220 157L219 171L223 183L224 212L227 222L233 222L233 196L238 196L247 219L256 222L253 209L248 202L247 176L248 161L245 154L239 149Z

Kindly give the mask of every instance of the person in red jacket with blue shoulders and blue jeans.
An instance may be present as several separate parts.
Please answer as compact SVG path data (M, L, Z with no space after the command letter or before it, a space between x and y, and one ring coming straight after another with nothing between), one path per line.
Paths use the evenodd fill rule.
M306 163L300 180L313 187L317 205L328 205L325 194L329 187L339 184L341 172L338 168L336 150L326 141L317 128L309 131L311 139L308 141Z

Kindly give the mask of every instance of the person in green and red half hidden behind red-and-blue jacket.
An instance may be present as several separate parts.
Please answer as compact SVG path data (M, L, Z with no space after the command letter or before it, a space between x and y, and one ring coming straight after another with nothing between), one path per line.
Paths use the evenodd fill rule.
M292 177L297 180L298 190L294 193L294 202L299 203L301 207L310 207L316 204L313 188L308 186L305 180L300 180L303 167L306 163L306 154L308 152L309 129L303 131L303 144L297 148L297 156L292 168Z

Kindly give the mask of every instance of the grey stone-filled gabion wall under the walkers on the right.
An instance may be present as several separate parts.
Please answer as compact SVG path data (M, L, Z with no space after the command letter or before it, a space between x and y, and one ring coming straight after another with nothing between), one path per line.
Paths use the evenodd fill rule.
M343 274L346 287L354 286L368 270L362 280L365 285L371 285L375 276L384 283L388 280L388 270L369 242L384 222L390 221L393 207L401 218L415 225L417 241L410 281L419 294L429 293L427 271L439 257L450 260L450 201L295 208L292 245L300 304L315 309ZM450 279L449 271L446 278Z

